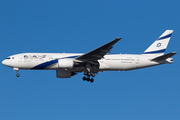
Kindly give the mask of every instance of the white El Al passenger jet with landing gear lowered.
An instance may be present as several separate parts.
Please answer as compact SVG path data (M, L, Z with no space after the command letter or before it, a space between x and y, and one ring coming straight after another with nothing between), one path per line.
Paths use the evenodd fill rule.
M21 53L2 61L13 68L19 77L19 69L56 70L57 78L71 78L84 72L83 81L94 82L95 74L104 71L128 71L173 62L177 52L164 54L173 30L166 30L142 54L110 54L116 38L85 54L80 53Z

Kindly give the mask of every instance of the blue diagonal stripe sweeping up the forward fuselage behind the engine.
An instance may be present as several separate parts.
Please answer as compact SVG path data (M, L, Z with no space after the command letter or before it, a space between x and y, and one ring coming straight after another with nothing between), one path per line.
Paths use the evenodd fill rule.
M78 56L70 56L70 57L64 57L64 58L75 58L75 57L78 57ZM64 59L64 58L59 58L59 59ZM46 68L48 66L51 66L51 65L53 65L55 63L58 63L58 59L51 60L51 61L48 61L48 62L44 62L42 64L39 64L39 65L33 67L32 69L44 69L44 68Z

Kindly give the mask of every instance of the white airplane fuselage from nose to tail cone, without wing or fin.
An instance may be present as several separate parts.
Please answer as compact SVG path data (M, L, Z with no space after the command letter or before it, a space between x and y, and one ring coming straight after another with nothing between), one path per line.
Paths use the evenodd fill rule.
M67 70L74 72L85 71L84 66L74 66L72 68L60 68L58 65L59 59L72 59L82 54L74 53L22 53L8 57L3 61L3 64L19 69L38 69L38 70ZM171 58L163 61L151 61L156 56L150 55L134 55L134 54L107 54L104 58L98 60L98 69L91 71L126 71L139 69L149 66L171 63Z

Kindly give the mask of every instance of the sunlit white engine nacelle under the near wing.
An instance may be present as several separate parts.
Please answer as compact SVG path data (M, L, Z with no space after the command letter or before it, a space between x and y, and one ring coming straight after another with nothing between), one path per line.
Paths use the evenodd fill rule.
M73 59L59 59L58 67L59 68L72 68L74 65Z

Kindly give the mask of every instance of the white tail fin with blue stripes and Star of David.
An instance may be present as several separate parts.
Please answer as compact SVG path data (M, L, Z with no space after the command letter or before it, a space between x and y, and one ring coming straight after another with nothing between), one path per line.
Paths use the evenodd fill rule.
M164 55L173 30L166 30L143 54L147 55Z

